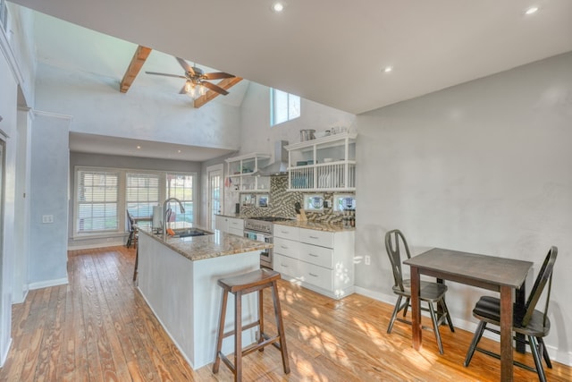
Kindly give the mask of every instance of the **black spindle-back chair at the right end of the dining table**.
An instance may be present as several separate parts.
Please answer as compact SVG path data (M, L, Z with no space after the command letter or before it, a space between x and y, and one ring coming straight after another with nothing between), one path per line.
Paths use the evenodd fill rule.
M544 345L543 337L548 335L551 329L551 321L548 318L548 305L551 297L551 285L552 285L552 270L554 269L554 262L556 261L556 256L558 254L558 249L554 246L548 251L546 258L543 262L543 267L541 267L534 286L528 299L526 300L526 305L524 309L517 310L515 307L513 314L513 324L512 330L518 334L525 335L525 339L515 337L515 340L524 342L530 345L530 350L533 353L534 358L534 368L525 365L521 362L515 361L514 364L530 370L535 371L538 374L538 378L541 381L546 381L546 375L544 374L543 362L541 360L541 354L546 362L546 365L551 369L552 364L546 351L546 346ZM536 304L543 294L544 286L548 283L548 292L546 293L546 302L544 304L544 310L535 310ZM479 348L477 345L483 336L484 330L489 330L493 333L500 334L499 330L486 327L487 324L492 324L497 327L500 326L501 322L501 301L496 297L483 296L476 302L475 309L473 310L473 316L481 320L478 327L476 327L475 336L473 341L468 348L467 357L465 359L465 367L468 366L473 354L476 351L484 352L487 355L500 359L501 356L494 352Z

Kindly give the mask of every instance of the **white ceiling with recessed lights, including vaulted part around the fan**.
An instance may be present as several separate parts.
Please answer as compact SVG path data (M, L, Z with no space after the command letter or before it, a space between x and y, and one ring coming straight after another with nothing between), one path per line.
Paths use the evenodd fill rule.
M179 73L176 55L354 114L572 50L570 0L287 0L282 13L271 12L272 0L13 3L115 37L63 35L38 21L46 30L38 55L53 64L121 80L140 44L154 49L144 71ZM531 5L539 11L526 15ZM145 74L137 81L182 86ZM240 105L247 87L220 101Z

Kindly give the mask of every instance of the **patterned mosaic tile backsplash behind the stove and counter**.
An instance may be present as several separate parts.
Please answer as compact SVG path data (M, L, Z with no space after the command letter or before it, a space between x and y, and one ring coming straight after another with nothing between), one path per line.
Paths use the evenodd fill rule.
M287 175L272 176L270 178L268 207L259 208L252 206L240 206L240 215L296 217L296 208L294 205L296 202L299 202L300 205L304 205L304 193L299 191L286 191L286 189L288 189ZM322 223L341 223L341 214L333 212L332 210L333 193L319 193L324 193L324 201L326 201L330 207L324 208L324 211L321 212L306 211L307 219L310 221ZM238 199L240 199L240 197L238 197Z

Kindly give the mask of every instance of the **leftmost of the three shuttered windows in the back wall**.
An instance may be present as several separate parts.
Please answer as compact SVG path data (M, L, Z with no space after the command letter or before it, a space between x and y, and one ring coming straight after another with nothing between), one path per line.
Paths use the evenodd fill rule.
M119 173L80 170L77 174L77 232L116 231Z

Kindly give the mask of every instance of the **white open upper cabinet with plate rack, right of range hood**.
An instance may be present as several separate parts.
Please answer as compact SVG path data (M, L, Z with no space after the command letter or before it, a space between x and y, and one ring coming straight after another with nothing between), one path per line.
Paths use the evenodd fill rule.
M289 191L356 191L356 133L286 146Z

